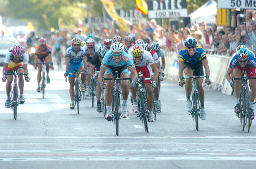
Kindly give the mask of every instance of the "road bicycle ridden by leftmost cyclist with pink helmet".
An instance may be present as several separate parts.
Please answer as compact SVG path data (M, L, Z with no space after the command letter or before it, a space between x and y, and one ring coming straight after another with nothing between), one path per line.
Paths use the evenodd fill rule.
M4 72L4 79L6 79L6 75L14 76L13 80L13 91L11 92L11 109L13 110L13 119L17 119L17 106L20 104L19 100L19 91L18 91L18 84L17 84L17 75L26 75L28 77L28 73L17 73L16 69L13 69L13 73L6 73Z

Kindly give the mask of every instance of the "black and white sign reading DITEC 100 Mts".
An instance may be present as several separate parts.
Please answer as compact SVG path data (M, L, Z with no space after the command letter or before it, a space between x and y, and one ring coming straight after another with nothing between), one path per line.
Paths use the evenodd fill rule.
M177 18L187 16L186 0L147 1L148 18Z

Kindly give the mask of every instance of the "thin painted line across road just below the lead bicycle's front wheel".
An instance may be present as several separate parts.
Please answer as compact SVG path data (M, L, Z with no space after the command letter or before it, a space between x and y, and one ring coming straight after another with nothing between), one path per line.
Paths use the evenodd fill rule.
M9 138L256 138L256 136L0 136Z

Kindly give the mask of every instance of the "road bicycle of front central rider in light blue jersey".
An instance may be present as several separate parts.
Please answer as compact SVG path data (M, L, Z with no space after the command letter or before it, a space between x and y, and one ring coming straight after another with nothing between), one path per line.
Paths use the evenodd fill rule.
M117 71L115 72L115 76L113 78L104 78L104 76L102 77L102 81L104 84L105 80L113 80L113 88L114 88L114 92L112 95L112 122L115 125L115 129L116 129L116 135L119 135L119 119L121 119L122 117L122 111L121 111L121 104L120 104L120 95L121 92L119 90L120 88L120 81L121 80L130 80L130 82L132 82L132 76L130 76L130 78L119 78Z

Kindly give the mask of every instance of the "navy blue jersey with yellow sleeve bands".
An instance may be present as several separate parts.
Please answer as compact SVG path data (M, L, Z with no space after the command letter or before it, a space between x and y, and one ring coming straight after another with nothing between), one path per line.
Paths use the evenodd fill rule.
M179 55L178 55L178 60L184 62L188 62L190 64L196 64L200 60L206 59L206 53L202 47L197 46L196 52L194 56L189 56L187 49L183 48L181 49Z

